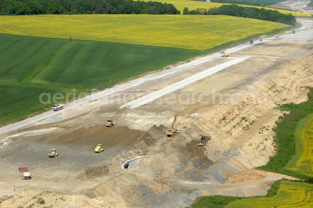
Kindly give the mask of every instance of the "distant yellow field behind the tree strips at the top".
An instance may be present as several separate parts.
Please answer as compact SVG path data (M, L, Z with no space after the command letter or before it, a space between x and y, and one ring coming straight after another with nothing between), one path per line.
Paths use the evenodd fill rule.
M150 1L150 0L144 0L144 1ZM199 1L189 1L189 0L158 0L158 2L166 2L173 4L178 10L182 12L182 10L185 7L188 7L189 10L196 10L198 8L213 8L213 7L220 7L224 3L214 3L214 2L199 2ZM275 9L275 8L269 8L269 7L257 7L257 6L249 6L249 5L239 5L243 7L256 7L256 8L265 8L265 9L271 9L271 10L277 10L280 13L283 14L289 14L291 13L294 16L308 16L311 17L311 14L309 13L302 13L302 12L293 12L293 11L287 11L282 9Z

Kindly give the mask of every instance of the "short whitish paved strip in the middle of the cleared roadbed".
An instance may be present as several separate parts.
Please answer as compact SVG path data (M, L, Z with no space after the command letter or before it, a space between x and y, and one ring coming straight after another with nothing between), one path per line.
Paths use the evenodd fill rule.
M160 89L160 90L157 90L157 91L154 91L154 92L151 92L147 95L144 95L136 100L133 100L133 101L130 101L124 105L122 105L120 108L129 108L129 109L133 109L133 108L136 108L136 107L140 107L144 104L147 104L149 102L152 102L154 100L156 100L157 98L160 98L166 94L169 94L171 92L174 92L174 91L177 91L187 85L190 85L196 81L199 81L207 76L210 76L212 74L215 74L217 73L218 71L220 70L223 70L225 68L228 68L230 67L231 65L234 65L234 64L238 64L244 60L247 60L248 58L250 58L251 56L241 56L241 57L236 57L236 58L233 58L232 60L230 61L227 61L223 64L220 64L220 65L217 65L217 66L214 66L212 68L209 68L207 70L204 70L198 74L195 74L195 75L192 75L184 80L181 80L181 81L178 81L170 86L167 86L167 87L164 87L163 89Z

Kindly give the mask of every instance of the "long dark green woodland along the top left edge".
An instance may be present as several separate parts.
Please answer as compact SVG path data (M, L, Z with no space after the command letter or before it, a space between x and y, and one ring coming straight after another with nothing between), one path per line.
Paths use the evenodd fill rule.
M180 14L173 4L133 0L0 0L0 15Z

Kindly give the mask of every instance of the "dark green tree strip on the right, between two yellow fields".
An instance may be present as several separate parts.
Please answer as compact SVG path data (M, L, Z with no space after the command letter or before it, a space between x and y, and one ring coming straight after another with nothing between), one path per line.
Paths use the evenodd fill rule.
M196 10L191 10L187 7L184 8L183 14L202 14L202 15L228 15L235 17L244 17L252 19L261 19L271 22L284 23L289 25L295 25L296 19L291 13L283 14L277 10L269 10L264 8L255 7L242 7L236 4L222 5L218 8L203 9L198 8Z

